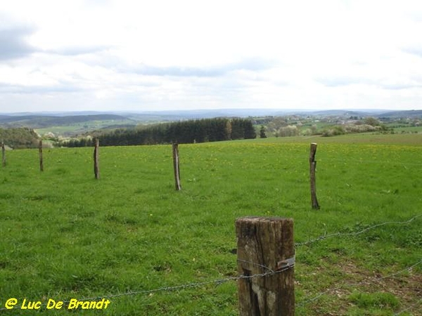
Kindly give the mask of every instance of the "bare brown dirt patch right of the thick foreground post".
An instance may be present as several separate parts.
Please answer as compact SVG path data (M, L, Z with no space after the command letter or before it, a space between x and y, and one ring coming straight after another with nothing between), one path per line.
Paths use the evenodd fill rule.
M390 269L391 273L381 273L365 270L353 262L337 264L330 270L341 271L343 277L333 282L332 287L320 289L319 294L324 293L324 295L317 298L319 294L314 294L309 297L316 299L309 302L312 306L309 306L309 310L312 312L308 315L358 315L359 307L356 305L356 300L352 299L356 294L373 297L374 300L382 294L392 294L399 302L398 305L387 304L382 308L374 303L374 311L365 310L364 315L378 315L376 308L378 311L390 310L394 313L391 315L404 310L407 313L400 315L422 315L422 275L414 270L407 271L396 267ZM323 268L318 274L329 275L330 272Z

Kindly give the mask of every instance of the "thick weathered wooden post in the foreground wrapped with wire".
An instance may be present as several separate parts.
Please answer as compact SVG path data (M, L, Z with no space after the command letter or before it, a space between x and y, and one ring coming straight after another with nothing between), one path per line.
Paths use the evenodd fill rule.
M295 315L293 219L236 220L241 316Z

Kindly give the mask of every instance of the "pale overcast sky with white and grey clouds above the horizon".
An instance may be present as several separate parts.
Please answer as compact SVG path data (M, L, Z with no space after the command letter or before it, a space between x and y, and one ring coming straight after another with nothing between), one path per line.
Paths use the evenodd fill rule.
M0 0L0 112L422 109L422 1Z

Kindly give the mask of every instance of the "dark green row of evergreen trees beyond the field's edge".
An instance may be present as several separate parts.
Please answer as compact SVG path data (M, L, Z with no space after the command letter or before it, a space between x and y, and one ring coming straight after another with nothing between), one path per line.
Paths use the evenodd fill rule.
M204 143L256 137L250 119L226 118L177 121L136 129L116 129L96 135L102 146ZM62 145L67 147L91 146L94 145L94 140L92 138L75 139Z

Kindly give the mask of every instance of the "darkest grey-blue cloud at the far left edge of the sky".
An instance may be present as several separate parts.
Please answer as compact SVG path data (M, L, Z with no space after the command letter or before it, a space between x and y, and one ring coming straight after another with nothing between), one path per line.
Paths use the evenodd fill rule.
M27 43L26 38L34 32L26 27L0 29L0 60L25 57L36 49Z

